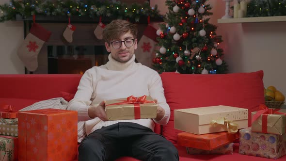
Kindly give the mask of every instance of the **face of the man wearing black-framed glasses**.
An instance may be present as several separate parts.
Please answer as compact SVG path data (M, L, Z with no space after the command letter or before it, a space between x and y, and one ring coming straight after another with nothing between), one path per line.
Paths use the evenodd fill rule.
M114 41L125 41L127 39L134 39L133 35L130 32L121 35L118 39L111 40L111 43ZM128 44L128 41L129 40L127 40L126 44ZM134 39L134 43L131 47L127 47L128 45L126 46L124 42L121 42L120 48L116 48L114 46L115 43L113 44L115 48L113 48L111 43L108 44L107 42L105 42L105 48L108 52L111 52L111 56L113 59L121 63L128 62L132 58L134 51L137 48L137 39ZM120 42L117 42L117 44L118 43Z

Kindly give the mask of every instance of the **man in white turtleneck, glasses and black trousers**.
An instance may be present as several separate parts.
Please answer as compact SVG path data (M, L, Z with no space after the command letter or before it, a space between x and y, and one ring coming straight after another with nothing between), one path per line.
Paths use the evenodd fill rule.
M125 20L113 20L103 31L109 62L87 70L68 110L78 111L86 121L87 137L79 145L79 161L114 161L131 156L142 161L178 161L174 145L154 133L156 123L165 125L170 118L159 74L135 63L137 28ZM154 119L108 121L105 100L143 95L158 104Z

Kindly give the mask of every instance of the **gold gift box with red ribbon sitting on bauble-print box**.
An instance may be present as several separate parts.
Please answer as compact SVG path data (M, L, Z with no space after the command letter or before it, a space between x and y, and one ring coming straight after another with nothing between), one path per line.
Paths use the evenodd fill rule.
M286 110L259 105L259 111L252 112L252 131L279 135L286 133Z

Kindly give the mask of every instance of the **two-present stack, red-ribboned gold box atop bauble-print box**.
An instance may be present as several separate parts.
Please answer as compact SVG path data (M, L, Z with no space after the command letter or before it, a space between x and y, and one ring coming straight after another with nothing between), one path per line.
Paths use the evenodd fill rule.
M252 127L240 132L239 154L278 159L286 155L286 110L260 105Z

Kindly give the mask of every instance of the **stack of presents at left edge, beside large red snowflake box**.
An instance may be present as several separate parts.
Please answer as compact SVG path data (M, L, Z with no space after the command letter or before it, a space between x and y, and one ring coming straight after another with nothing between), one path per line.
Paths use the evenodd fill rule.
M0 111L0 161L18 159L18 118L11 105L1 106Z

